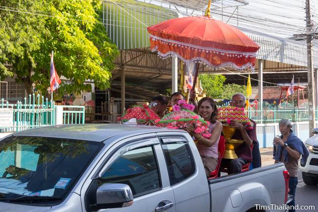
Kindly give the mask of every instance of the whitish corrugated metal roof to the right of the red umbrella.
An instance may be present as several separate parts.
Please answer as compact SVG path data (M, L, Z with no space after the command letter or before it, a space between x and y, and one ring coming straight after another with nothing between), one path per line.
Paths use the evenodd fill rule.
M246 28L238 28L260 46L256 56L257 59L307 67L307 46L305 43L275 37ZM313 52L314 68L318 69L317 46L313 47Z

